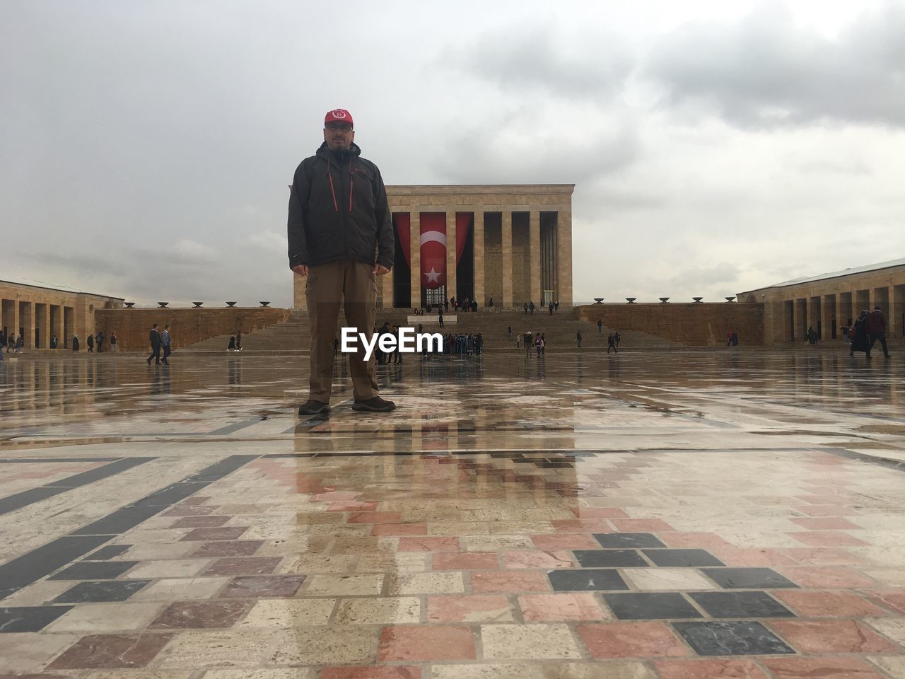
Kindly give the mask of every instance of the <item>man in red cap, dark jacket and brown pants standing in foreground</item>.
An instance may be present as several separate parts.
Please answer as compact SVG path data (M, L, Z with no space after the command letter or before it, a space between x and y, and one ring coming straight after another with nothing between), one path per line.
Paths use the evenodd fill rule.
M333 386L330 340L339 305L346 322L369 337L374 329L376 276L393 266L394 234L380 170L355 143L348 110L324 117L324 142L295 171L289 201L289 265L308 276L305 293L311 327L308 401L299 415L329 412ZM376 257L375 257L376 252ZM359 347L348 357L353 410L386 412L395 404L380 397L374 358Z

